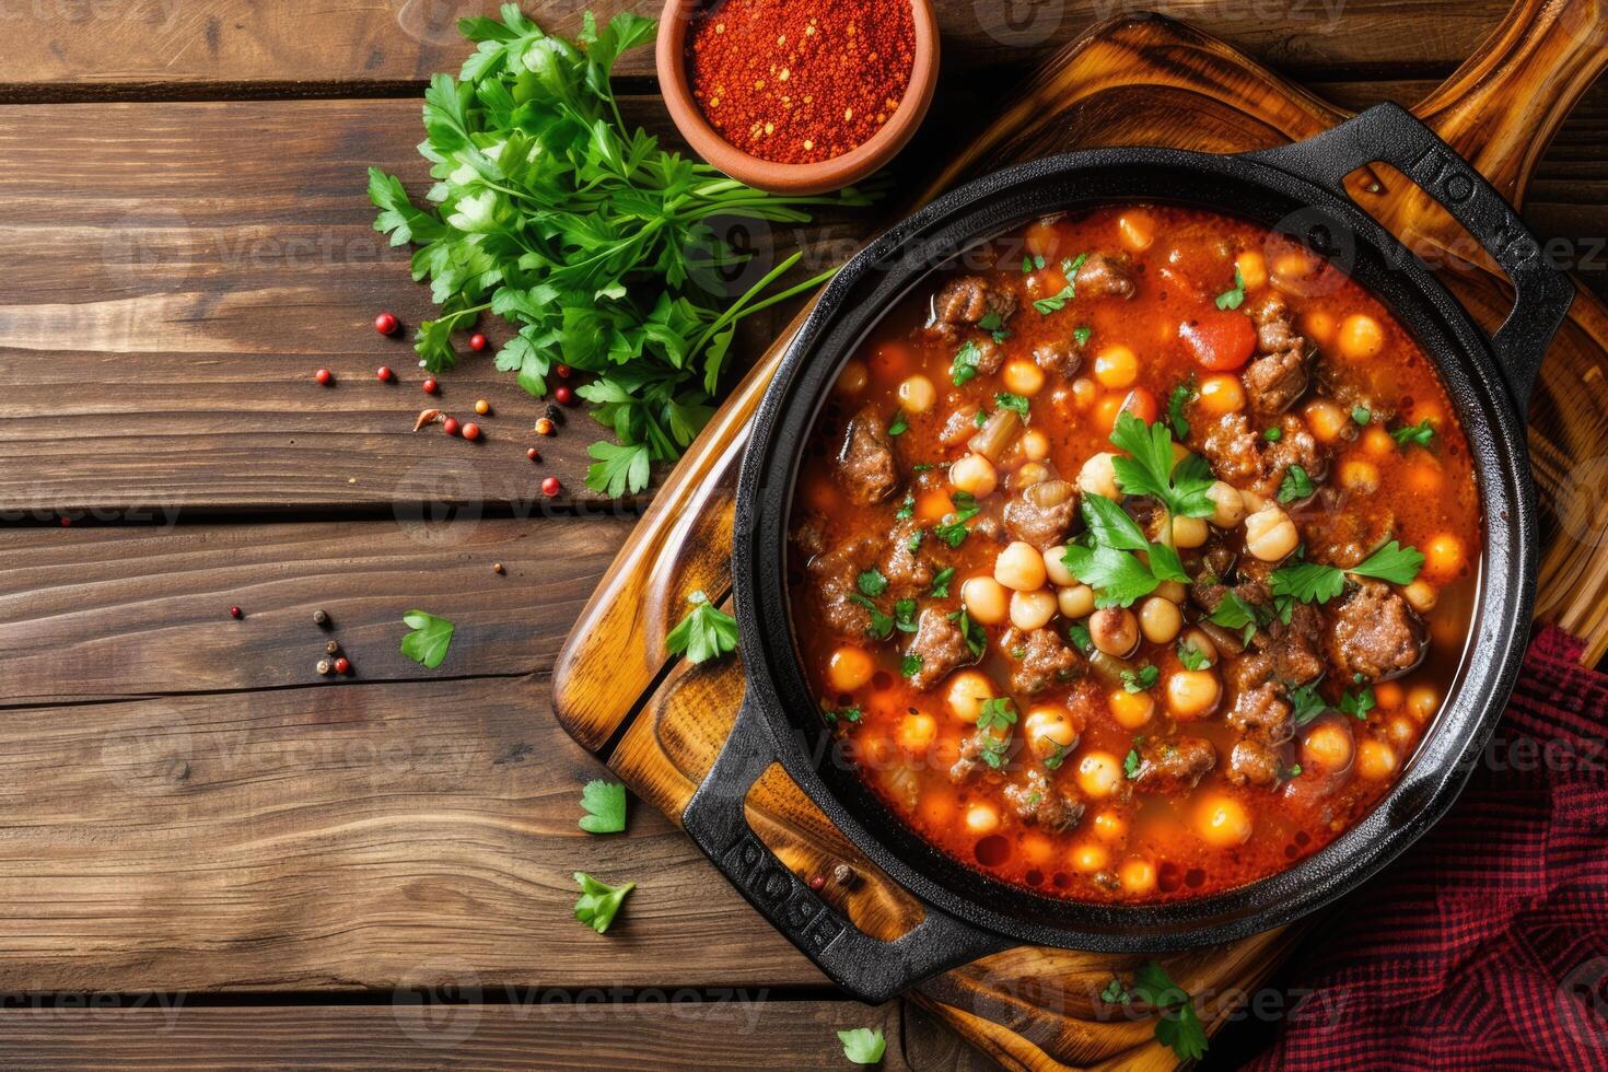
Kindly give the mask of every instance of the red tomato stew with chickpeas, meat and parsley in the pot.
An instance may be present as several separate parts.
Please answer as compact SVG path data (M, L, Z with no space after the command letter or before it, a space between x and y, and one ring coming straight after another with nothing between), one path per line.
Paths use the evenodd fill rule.
M1288 868L1462 659L1481 518L1434 366L1339 268L1175 206L1039 220L892 309L812 431L790 599L865 781L1095 902Z

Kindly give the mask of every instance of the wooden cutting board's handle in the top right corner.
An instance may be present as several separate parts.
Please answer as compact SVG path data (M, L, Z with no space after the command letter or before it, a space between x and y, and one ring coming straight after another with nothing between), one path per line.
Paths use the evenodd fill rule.
M1536 162L1608 66L1608 0L1518 0L1413 114L1520 206Z

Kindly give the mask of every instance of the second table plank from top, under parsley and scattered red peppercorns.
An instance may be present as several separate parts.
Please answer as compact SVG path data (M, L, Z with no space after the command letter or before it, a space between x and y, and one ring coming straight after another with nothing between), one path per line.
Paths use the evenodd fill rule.
M1367 98L1394 90L1375 84ZM638 104L659 129L656 106ZM1542 161L1532 215L1608 235L1608 159L1590 148L1605 127L1608 90ZM558 437L532 436L542 403L489 355L444 376L441 399L457 413L489 399L487 442L410 431L429 402L420 370L368 320L391 307L416 323L428 293L370 230L363 164L421 177L416 138L413 101L0 111L0 153L13 164L0 174L0 519L170 506L389 513L420 500L529 514L550 505L537 487L548 473L568 489L558 505L597 501L582 485L598 436L590 418L572 410ZM873 217L839 214L777 238L802 239L823 267ZM1608 259L1574 249L1595 256L1585 278L1608 294ZM756 318L738 360L762 350L788 312ZM376 383L379 363L405 383ZM341 378L334 389L312 383L318 366ZM532 444L540 466L524 458Z

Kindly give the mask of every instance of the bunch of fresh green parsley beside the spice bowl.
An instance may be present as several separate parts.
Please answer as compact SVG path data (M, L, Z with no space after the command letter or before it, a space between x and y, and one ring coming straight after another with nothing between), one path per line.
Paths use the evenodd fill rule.
M532 395L547 392L553 365L592 373L579 394L619 442L592 445L587 487L638 492L650 464L679 458L709 419L736 321L831 275L767 294L794 254L725 305L711 276L746 257L709 220L802 223L798 206L868 199L852 188L762 193L629 129L609 71L653 40L653 19L627 11L598 31L589 11L571 42L508 3L502 21L460 19L458 31L474 55L425 92L431 207L368 170L375 230L416 246L413 278L429 278L441 305L413 346L441 371L458 358L452 331L490 312L518 329L497 368Z

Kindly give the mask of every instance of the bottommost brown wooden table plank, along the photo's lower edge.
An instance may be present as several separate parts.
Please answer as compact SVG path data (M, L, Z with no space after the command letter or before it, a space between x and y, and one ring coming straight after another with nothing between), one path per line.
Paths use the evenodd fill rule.
M445 974L434 985L484 992ZM431 982L426 980L425 987ZM437 992L441 993L441 992ZM905 1062L900 1008L852 1001L761 1001L749 993L695 1000L688 988L619 995L516 988L508 1004L187 1008L183 995L40 998L0 1017L6 1067L27 1069L843 1069L839 1030L883 1032L881 1069ZM88 1004L90 998L84 1003ZM138 1008L130 1008L133 1003ZM674 1001L674 1003L671 1003ZM166 1004L164 1004L166 1003ZM947 1045L946 1045L947 1043ZM954 1037L921 1025L925 1072L981 1069Z

